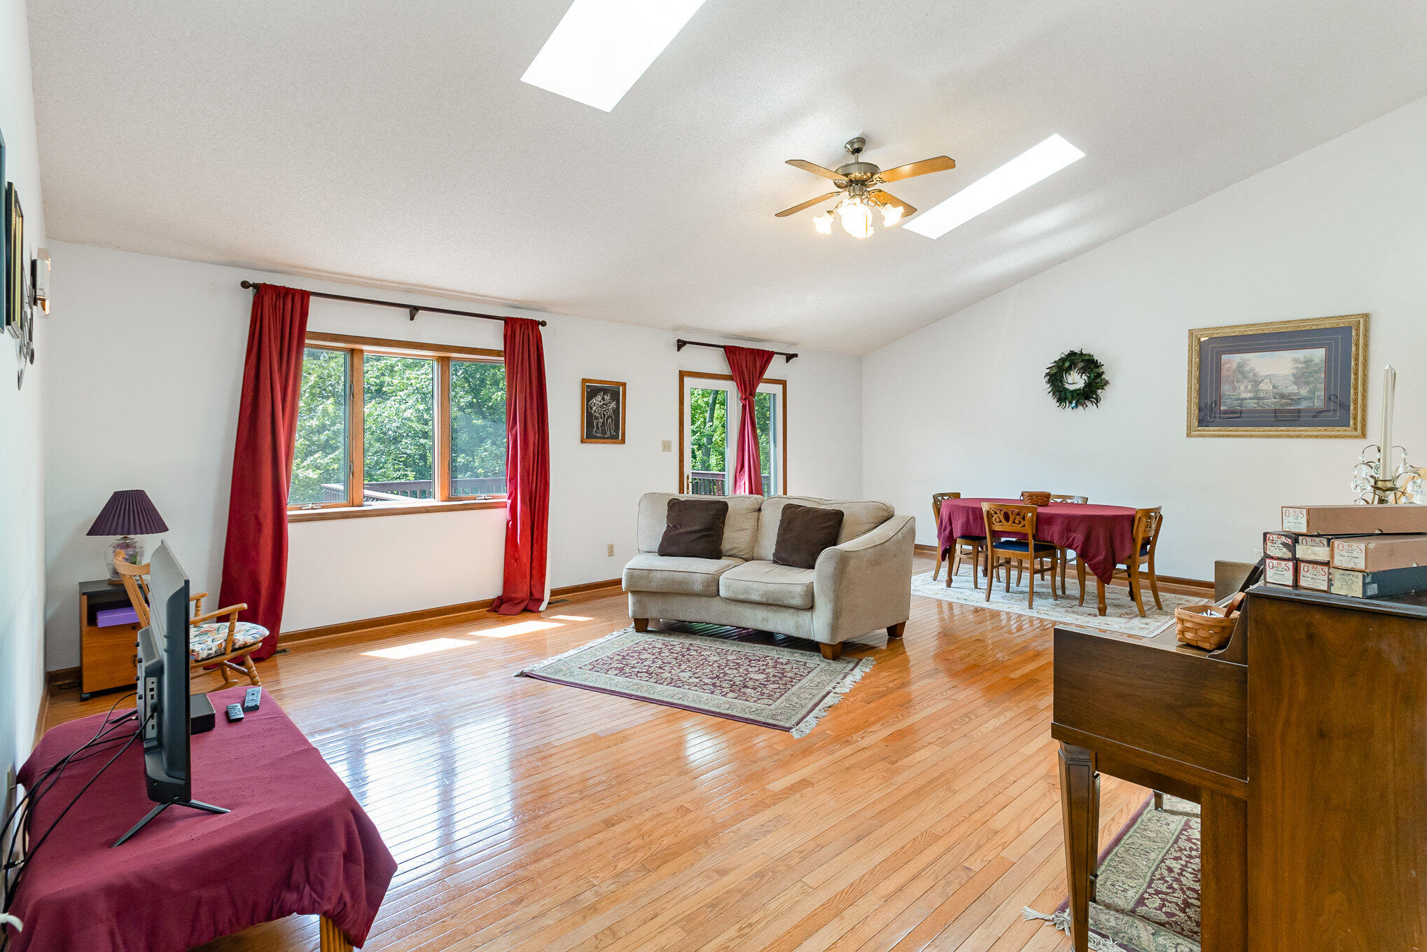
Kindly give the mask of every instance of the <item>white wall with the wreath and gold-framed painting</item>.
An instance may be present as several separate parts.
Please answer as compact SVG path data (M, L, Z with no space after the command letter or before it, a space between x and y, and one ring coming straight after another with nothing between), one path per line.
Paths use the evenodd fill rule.
M1157 568L1212 578L1280 505L1351 501L1368 441L1187 438L1189 328L1364 311L1370 441L1391 361L1394 442L1427 462L1424 146L1420 100L869 354L865 494L916 512L922 542L933 491L1163 505ZM1070 348L1106 365L1097 410L1045 391Z

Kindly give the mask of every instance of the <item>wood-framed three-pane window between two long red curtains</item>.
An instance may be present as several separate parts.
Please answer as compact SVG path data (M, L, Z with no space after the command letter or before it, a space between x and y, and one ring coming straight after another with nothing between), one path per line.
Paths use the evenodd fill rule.
M337 518L505 497L499 351L308 334L290 518Z

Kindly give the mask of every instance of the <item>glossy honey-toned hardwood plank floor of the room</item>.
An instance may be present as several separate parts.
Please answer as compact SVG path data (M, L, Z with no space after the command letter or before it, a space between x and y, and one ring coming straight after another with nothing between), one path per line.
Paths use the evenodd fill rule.
M628 624L582 595L260 665L400 864L368 949L1070 948L1020 916L1065 896L1047 622L913 598L803 739L512 677ZM1146 795L1104 778L1102 842ZM298 916L203 952L315 948Z

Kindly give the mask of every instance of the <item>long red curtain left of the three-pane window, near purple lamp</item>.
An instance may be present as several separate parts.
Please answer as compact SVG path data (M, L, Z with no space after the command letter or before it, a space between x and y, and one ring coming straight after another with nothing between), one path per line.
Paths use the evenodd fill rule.
M247 602L243 621L268 629L268 637L253 652L257 661L277 651L283 627L287 490L293 480L310 301L307 291L260 284L248 321L218 607Z

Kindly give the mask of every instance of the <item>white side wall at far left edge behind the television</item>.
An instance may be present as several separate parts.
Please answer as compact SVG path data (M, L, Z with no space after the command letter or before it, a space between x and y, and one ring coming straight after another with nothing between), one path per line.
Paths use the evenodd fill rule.
M30 40L24 0L0 0L0 133L6 174L24 208L26 244L44 247L40 160L34 144ZM3 183L0 183L3 187ZM41 377L50 363L50 321L34 333L36 363L16 390L16 340L0 331L0 771L30 751L44 685L40 611L44 602L44 464ZM0 804L6 801L0 789Z

